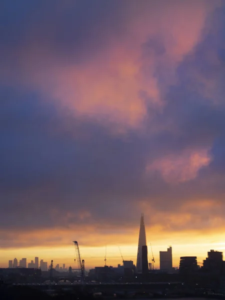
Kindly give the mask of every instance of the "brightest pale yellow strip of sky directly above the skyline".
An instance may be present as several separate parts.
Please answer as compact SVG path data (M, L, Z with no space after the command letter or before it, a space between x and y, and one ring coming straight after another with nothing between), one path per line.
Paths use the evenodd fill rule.
M179 266L180 256L197 256L198 264L202 265L202 261L205 259L205 257L207 257L207 252L210 251L210 249L225 251L225 242L223 241L225 238L225 233L223 235L205 234L201 238L199 238L199 236L197 238L190 238L189 235L190 233L188 232L184 235L185 243L179 243L179 234L172 234L175 243L169 242L172 241L171 238L160 240L155 239L154 237L151 240L151 244L154 239L156 240L156 243L152 244L152 250L155 258L154 267L159 268L159 251L166 250L169 245L172 246L173 267ZM148 262L151 262L152 255L149 242L150 240L147 239ZM132 244L123 244L122 242L115 244L107 243L106 264L114 267L116 267L118 263L122 265L118 246L120 247L124 260L133 260L135 264L137 255L137 242ZM200 250L199 247L201 248ZM86 246L79 244L79 248L82 258L85 260L85 267L87 269L93 268L94 266L104 265L105 245ZM76 258L72 241L69 245L63 246L36 246L16 249L11 247L7 249L1 249L0 254L0 267L7 267L9 259L13 260L14 258L17 258L19 261L19 259L22 257L26 257L28 263L30 260L34 260L35 256L38 256L39 260L43 259L44 261L47 261L48 264L50 264L50 260L53 259L54 265L59 263L62 266L62 263L65 263L66 267L68 267L70 265L74 266L74 258Z

